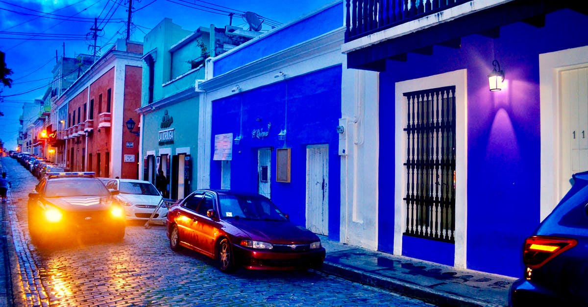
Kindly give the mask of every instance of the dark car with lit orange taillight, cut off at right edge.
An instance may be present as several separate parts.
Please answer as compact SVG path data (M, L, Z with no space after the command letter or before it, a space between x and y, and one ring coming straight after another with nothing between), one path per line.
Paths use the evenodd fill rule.
M511 306L588 306L588 172L524 242L524 278L510 288Z

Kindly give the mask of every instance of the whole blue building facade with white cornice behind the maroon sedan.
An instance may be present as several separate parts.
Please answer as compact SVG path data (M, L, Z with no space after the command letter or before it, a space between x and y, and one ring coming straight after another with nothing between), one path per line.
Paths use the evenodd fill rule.
M260 35L209 59L199 83L201 180L268 196L294 223L336 240L342 18L336 3Z

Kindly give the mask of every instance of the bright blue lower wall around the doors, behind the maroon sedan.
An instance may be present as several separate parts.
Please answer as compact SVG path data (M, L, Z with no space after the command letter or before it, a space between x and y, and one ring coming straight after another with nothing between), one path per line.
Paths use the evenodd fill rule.
M243 139L233 145L231 189L258 192L257 151L274 148L270 170L272 201L297 225L306 225L306 146L329 144L329 238L333 240L339 240L340 157L335 128L341 117L341 73L341 66L334 66L212 103L212 148L215 135L238 135L242 118ZM254 129L268 131L269 122L266 138L252 138ZM285 142L278 140L284 128ZM290 183L276 182L275 148L291 148ZM211 161L211 188L220 188L220 161Z

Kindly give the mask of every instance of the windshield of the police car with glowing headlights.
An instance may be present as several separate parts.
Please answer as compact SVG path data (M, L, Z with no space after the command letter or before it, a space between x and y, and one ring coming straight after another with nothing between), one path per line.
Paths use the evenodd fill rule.
M110 192L99 180L68 180L47 181L45 197L59 196L109 196Z

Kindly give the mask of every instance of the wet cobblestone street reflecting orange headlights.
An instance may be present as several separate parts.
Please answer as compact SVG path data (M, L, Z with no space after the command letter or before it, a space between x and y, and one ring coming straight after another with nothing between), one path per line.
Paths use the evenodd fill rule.
M75 242L41 251L27 230L26 201L37 180L2 158L12 182L9 218L27 306L420 306L423 302L322 272L228 275L211 259L169 249L165 227L129 223L120 243ZM14 263L13 263L14 266ZM20 288L20 287L16 287ZM22 301L21 301L22 300Z

